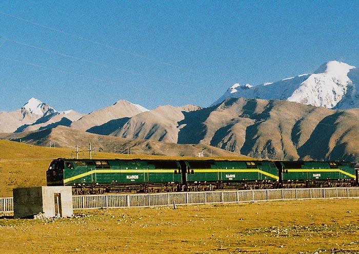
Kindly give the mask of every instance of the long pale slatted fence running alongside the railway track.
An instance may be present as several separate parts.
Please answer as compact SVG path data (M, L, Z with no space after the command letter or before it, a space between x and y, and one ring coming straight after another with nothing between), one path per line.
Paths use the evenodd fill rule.
M222 192L109 194L72 197L74 209L240 203L315 198L359 198L359 188L256 189ZM0 198L0 213L12 211L12 198Z

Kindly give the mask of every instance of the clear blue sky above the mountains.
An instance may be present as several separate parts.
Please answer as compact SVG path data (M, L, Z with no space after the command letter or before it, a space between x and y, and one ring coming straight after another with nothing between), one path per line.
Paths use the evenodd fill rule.
M0 111L35 97L207 107L232 84L359 67L359 1L1 1Z

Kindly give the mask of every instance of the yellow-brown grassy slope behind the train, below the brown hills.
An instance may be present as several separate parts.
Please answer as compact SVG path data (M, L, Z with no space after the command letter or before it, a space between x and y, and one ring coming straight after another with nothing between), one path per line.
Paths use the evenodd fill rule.
M46 185L46 171L54 158L71 158L74 149L50 148L0 140L0 197L12 197L12 189ZM83 153L80 154L81 157ZM85 153L89 158L89 153ZM92 158L109 159L186 159L151 155L92 153ZM208 157L207 157L208 158ZM216 159L244 159L245 157L216 157ZM248 157L247 157L248 158ZM193 157L191 157L193 159Z

